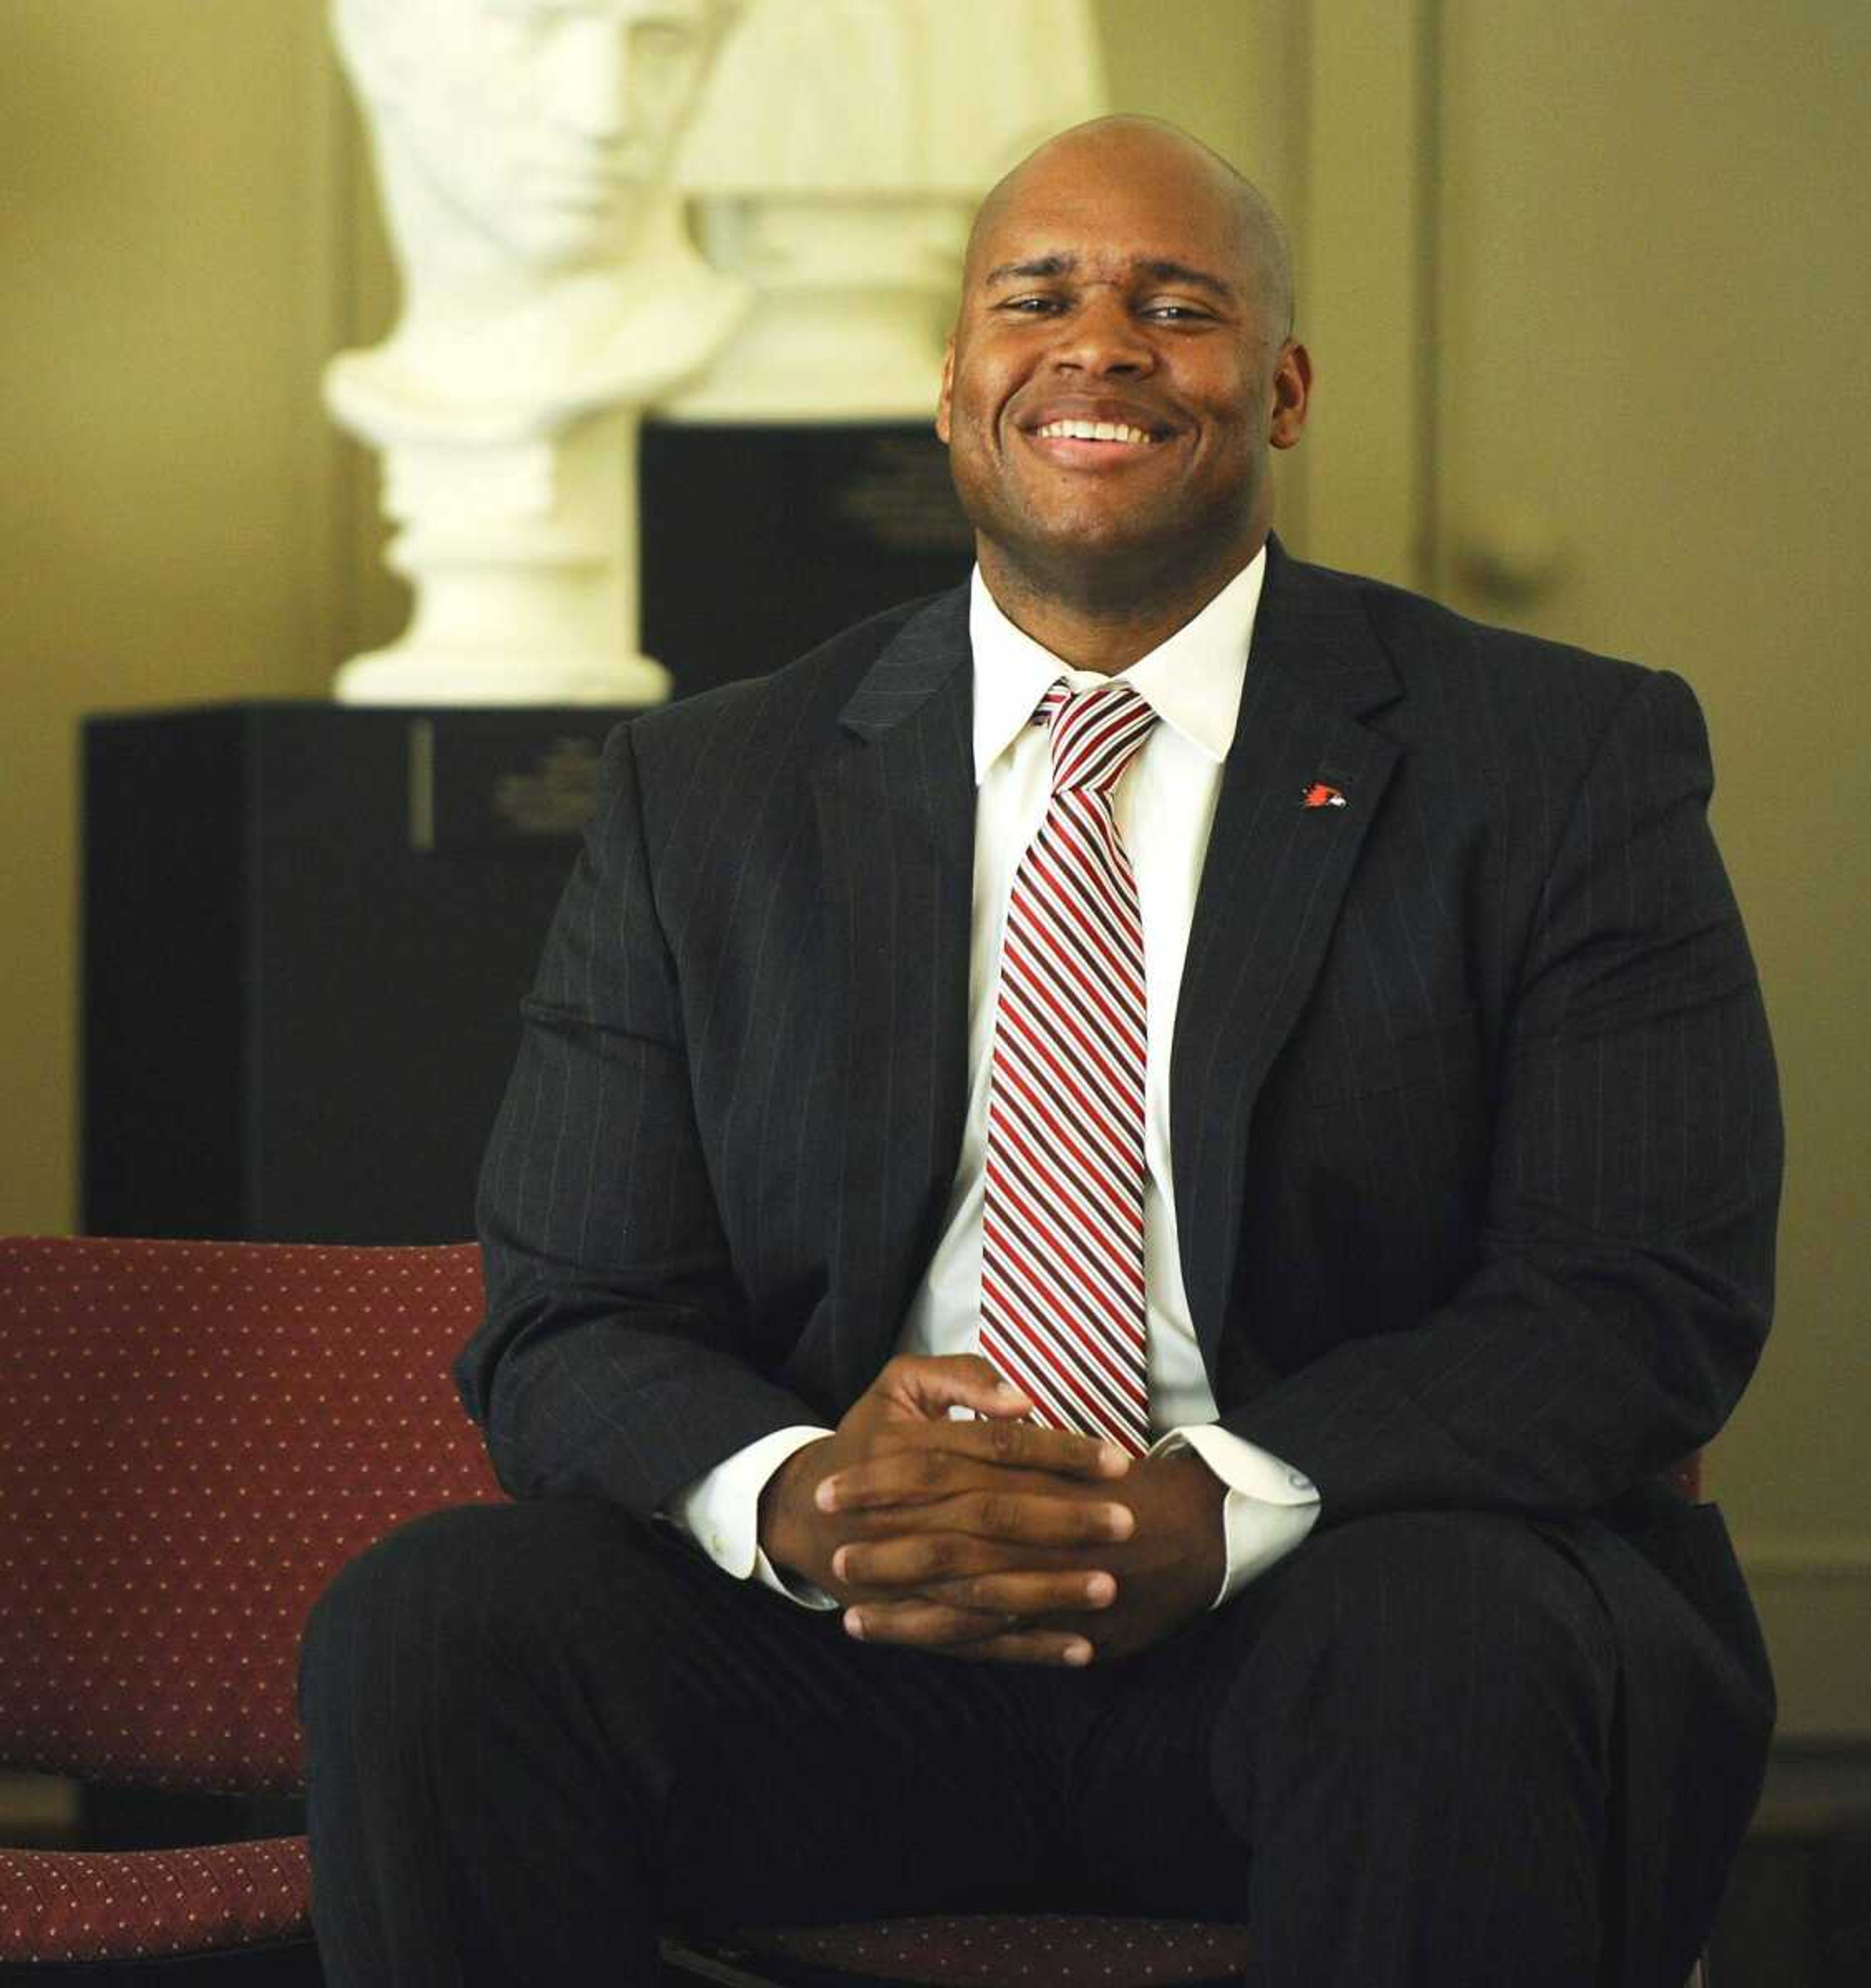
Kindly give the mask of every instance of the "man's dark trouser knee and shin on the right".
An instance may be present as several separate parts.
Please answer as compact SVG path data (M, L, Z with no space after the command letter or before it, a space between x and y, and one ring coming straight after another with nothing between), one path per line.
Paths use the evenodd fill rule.
M1537 1527L1396 1513L1249 1588L1217 1799L1280 1980L1577 1984L1601 1950L1616 1660Z

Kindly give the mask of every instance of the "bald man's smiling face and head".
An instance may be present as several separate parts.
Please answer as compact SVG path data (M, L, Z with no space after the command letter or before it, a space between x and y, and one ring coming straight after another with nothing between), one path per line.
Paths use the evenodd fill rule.
M1219 584L1253 559L1306 358L1251 203L1187 139L1123 121L990 195L936 415L990 582Z

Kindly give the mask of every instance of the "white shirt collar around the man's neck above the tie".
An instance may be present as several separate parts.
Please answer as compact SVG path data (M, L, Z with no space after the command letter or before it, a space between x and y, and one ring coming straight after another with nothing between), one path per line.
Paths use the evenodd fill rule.
M1235 744L1265 579L1263 545L1195 620L1119 672L1165 726L1217 765ZM1064 676L1074 690L1094 690L1106 678L1074 670L1016 628L988 592L980 567L968 582L968 642L974 650L974 783L980 785L1050 684Z

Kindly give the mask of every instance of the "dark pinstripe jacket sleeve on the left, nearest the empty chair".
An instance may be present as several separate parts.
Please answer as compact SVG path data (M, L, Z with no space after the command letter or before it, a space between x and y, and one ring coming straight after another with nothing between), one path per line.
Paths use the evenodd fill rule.
M648 1515L821 1417L746 1358L628 726L600 795L481 1167L487 1318L455 1378L509 1493Z

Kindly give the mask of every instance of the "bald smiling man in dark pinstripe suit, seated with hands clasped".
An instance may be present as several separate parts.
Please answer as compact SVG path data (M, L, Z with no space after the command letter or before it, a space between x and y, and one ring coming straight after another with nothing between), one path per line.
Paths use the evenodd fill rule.
M1054 139L940 388L970 586L612 738L483 1171L519 1503L308 1632L334 1982L1008 1903L1245 1918L1282 1988L1688 1972L1772 1684L1666 1471L1780 1181L1706 742L1668 674L1280 551L1290 296L1191 139ZM1046 724L1111 686L1135 1427L996 1286Z

